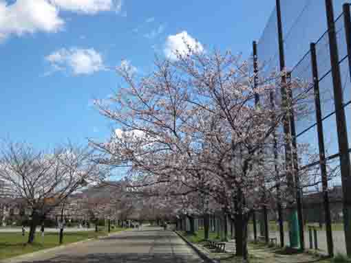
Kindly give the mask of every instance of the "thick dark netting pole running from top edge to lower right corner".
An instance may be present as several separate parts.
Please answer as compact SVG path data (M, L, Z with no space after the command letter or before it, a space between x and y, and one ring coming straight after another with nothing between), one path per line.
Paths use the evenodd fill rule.
M341 182L343 188L343 227L345 231L346 253L348 256L351 256L351 165L348 153L348 130L346 128L345 110L343 108L343 91L332 0L326 0L326 16L328 21L330 62L332 65L335 117L337 119Z

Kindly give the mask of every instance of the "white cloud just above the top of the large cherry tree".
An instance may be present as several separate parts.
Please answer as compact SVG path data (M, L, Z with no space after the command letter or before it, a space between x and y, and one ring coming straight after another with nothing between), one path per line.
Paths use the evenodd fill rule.
M180 56L187 56L189 53L200 54L204 52L204 47L186 31L183 31L179 34L168 36L163 51L167 58L176 60L177 54Z

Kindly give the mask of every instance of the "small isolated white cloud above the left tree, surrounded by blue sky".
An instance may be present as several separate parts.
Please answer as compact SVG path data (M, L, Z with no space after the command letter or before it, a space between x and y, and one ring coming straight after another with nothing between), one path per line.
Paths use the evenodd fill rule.
M94 49L59 49L46 56L52 67L57 70L70 69L74 75L92 74L104 70L102 56Z

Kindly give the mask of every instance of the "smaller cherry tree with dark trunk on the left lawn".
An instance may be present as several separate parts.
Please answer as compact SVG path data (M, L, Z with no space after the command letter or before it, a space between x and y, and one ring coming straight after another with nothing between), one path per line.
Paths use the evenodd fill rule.
M34 242L36 226L54 207L101 175L90 157L91 150L72 144L51 151L11 141L2 145L0 179L32 209L28 243Z

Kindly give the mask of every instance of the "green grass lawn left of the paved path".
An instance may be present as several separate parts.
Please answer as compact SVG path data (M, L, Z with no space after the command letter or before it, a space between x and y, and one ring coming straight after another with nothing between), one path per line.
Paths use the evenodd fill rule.
M123 229L115 228L111 229L111 233L116 233ZM63 235L63 244L70 244L89 238L97 238L98 236L107 236L107 228L99 227L99 231L96 233L92 228L92 231L81 231L81 232L66 232ZM21 233L1 233L0 232L0 260L5 258L12 258L17 255L23 255L25 253L32 253L41 249L50 249L52 247L59 246L58 233L45 233L44 237L41 237L40 233L36 233L34 244L27 244L28 231L23 237Z

